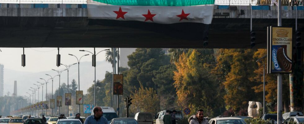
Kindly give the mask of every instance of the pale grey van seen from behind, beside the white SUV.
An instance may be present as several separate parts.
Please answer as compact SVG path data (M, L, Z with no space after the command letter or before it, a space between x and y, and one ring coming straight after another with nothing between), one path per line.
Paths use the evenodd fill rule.
M134 119L137 120L139 124L153 124L153 116L151 113L136 113Z

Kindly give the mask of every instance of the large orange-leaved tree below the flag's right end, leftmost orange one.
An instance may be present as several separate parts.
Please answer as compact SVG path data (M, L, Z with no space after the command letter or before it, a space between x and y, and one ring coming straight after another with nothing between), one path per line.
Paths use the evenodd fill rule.
M208 116L220 114L223 108L218 83L211 72L215 59L212 49L190 49L175 63L174 83L177 103L191 110L204 109Z

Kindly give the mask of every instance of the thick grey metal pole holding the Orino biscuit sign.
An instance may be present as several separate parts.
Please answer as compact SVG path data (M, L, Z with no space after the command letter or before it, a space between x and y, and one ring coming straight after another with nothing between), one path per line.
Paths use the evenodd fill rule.
M278 0L278 26L282 26L282 3ZM281 124L283 122L282 118L282 74L278 74L278 114L277 123Z

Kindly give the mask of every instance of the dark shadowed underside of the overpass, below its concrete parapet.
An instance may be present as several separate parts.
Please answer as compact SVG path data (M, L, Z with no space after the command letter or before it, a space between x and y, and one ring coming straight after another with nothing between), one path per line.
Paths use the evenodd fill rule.
M0 16L0 47L203 48L202 40L185 40L137 28L92 25L90 21L87 17ZM277 25L277 19L253 19L254 48L266 48L269 25ZM295 19L283 19L283 26L295 27ZM298 30L304 31L303 18L298 19ZM214 17L208 37L206 48L250 48L250 19Z

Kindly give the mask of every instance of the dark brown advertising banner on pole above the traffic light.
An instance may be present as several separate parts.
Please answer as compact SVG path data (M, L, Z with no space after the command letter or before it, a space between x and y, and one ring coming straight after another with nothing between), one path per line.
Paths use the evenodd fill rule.
M123 95L122 74L113 74L113 95Z

